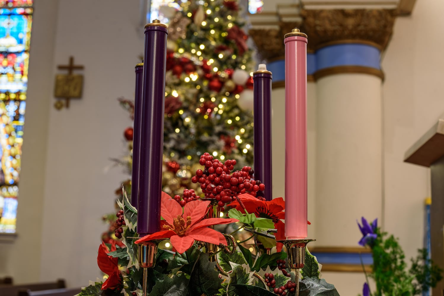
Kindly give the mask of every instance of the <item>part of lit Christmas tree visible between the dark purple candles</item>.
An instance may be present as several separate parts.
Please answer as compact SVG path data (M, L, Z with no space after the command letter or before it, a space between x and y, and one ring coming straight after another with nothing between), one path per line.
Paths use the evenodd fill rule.
M170 12L164 191L190 188L204 152L253 162L253 69L237 1L189 1Z

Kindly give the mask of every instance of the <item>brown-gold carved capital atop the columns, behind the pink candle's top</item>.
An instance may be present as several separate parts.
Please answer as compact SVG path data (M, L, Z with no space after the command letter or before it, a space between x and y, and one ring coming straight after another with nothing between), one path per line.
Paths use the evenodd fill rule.
M266 61L285 55L284 35L295 27L308 35L308 52L339 43L368 44L382 51L397 13L396 9L305 9L301 22L279 21L274 28L252 28L249 34Z

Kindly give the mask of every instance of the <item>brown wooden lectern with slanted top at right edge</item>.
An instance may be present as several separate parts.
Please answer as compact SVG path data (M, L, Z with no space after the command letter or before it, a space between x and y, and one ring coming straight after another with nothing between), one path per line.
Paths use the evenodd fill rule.
M430 207L430 233L432 260L444 269L444 117L441 117L424 136L405 153L405 162L430 167L432 206ZM432 294L444 295L444 280Z

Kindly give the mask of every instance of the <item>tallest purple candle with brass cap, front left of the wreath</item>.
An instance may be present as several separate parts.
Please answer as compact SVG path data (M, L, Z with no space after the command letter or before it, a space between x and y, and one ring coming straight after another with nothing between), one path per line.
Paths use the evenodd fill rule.
M167 35L166 25L157 19L145 26L137 207L140 235L160 230Z

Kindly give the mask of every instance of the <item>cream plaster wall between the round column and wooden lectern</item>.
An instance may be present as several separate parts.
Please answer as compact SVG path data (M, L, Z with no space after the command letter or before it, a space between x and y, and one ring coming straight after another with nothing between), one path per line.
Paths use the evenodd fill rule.
M416 1L411 16L396 19L382 60L384 227L400 238L407 258L423 246L424 198L430 195L430 181L428 168L403 162L404 152L444 112L443 10L442 1Z

